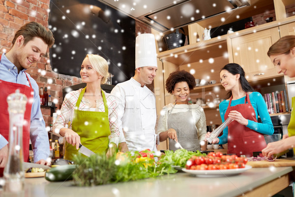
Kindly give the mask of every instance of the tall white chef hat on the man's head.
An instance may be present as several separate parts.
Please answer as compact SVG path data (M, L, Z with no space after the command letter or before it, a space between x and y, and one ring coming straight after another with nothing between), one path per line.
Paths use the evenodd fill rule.
M140 34L135 41L135 68L144 66L157 67L156 42L152 33Z

